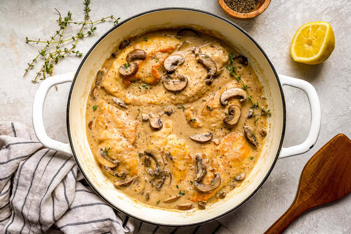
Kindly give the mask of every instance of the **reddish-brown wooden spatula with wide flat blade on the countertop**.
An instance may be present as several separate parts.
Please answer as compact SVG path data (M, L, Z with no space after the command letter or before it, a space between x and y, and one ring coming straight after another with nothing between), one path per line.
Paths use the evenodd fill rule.
M295 200L265 233L282 233L306 210L339 200L351 192L351 140L334 136L304 167Z

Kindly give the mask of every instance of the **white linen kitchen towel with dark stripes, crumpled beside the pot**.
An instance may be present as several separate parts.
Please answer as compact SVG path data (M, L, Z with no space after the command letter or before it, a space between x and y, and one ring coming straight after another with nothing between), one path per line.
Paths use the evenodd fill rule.
M94 193L72 155L45 148L20 123L0 125L0 230L5 234L230 233L217 221L170 228L130 219Z

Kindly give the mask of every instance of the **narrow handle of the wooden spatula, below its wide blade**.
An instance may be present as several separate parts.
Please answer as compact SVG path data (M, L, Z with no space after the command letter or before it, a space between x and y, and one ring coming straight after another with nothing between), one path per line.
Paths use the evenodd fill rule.
M265 234L283 233L284 230L305 211L306 209L303 206L298 205L298 203L294 201L289 209L287 209L286 212L266 230Z

